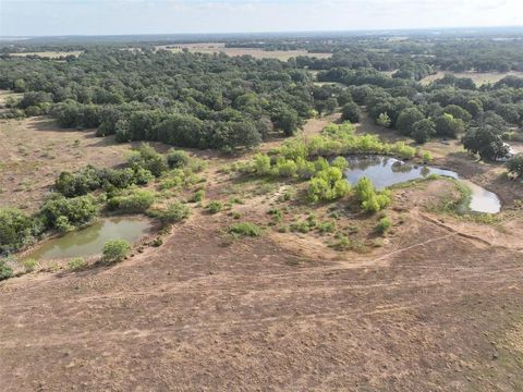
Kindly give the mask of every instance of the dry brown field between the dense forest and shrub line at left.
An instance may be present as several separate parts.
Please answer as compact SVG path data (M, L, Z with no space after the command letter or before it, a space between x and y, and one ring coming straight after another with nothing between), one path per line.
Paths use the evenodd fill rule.
M131 145L96 137L94 130L62 130L45 118L0 120L0 206L35 210L62 171L88 163L114 167Z

